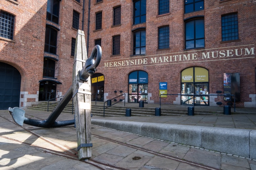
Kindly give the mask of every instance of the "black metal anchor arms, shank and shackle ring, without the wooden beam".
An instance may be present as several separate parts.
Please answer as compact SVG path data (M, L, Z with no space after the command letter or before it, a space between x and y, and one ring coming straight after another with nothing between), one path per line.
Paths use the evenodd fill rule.
M101 47L99 45L96 45L92 51L90 58L88 58L85 61L84 67L79 72L80 80L88 81L88 77L95 73L96 71L95 69L99 65L101 60L101 54L102 54ZM67 91L67 93L62 97L59 104L55 107L55 109L52 111L52 113L46 120L35 120L35 119L26 118L25 110L20 109L18 107L9 108L8 111L11 114L12 119L20 126L23 126L23 124L27 124L27 125L36 126L36 127L50 128L50 127L62 127L62 126L74 125L75 119L66 120L66 121L56 121L60 113L67 106L69 101L72 99L72 95L73 95L73 91L71 86Z

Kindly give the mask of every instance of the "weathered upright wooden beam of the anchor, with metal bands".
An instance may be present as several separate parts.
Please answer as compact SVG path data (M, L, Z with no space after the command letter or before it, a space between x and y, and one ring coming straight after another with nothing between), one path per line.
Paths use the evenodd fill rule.
M80 80L80 71L87 59L84 31L78 30L73 64L73 101L77 134L78 159L92 156L91 143L91 80Z

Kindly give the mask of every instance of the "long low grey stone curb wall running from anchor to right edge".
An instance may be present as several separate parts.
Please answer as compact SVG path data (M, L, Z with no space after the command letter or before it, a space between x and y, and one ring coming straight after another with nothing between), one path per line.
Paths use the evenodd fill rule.
M256 159L256 130L92 119L92 124Z

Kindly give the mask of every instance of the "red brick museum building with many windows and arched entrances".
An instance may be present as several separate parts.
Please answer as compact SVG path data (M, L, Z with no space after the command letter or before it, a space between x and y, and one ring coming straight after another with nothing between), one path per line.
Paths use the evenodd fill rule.
M65 94L74 38L82 29L87 39L87 23L89 54L102 46L92 76L99 100L123 91L127 102L150 104L168 93L180 95L163 103L218 106L230 103L214 96L222 91L255 108L255 11L251 0L90 0L84 8L82 0L2 0L0 109Z

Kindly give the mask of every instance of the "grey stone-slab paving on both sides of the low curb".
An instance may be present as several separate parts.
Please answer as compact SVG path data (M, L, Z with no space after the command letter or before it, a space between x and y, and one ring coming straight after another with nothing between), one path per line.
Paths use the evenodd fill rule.
M50 112L26 110L26 117L46 119ZM122 117L105 118L125 121L140 121L153 123L170 123L200 125L212 127L248 128L255 126L255 118L248 115L221 116L161 116L161 117ZM0 170L83 170L83 169L114 169L105 165L98 167L88 164L90 160L107 163L130 170L203 170L203 167L182 161L193 161L199 165L207 165L222 170L256 170L256 160L239 158L228 153L208 151L203 148L184 146L172 141L161 141L132 133L116 131L104 127L92 126L92 158L89 161L78 161L61 156L61 148L69 151L76 149L76 132L73 126L59 128L40 128L24 125L37 137L22 127L4 119L12 120L7 110L0 110ZM74 115L62 113L58 120L70 120ZM102 117L94 117L101 118ZM238 122L236 121L238 120ZM243 120L243 121L242 121ZM240 122L240 123L239 123ZM252 123L251 123L252 122ZM253 127L252 129L254 129ZM108 139L110 138L113 141ZM13 141L11 139L17 140ZM51 143L49 143L49 142ZM116 142L115 142L116 141ZM124 144L122 144L122 142ZM32 145L28 145L32 144ZM54 144L54 145L53 145ZM127 145L128 144L128 145ZM34 145L34 146L33 146ZM134 146L131 147L130 145ZM141 148L141 149L138 149ZM58 155L47 152L58 151ZM146 149L146 150L145 150ZM180 161L160 157L147 150L178 158ZM65 151L65 152L69 152ZM137 159L136 159L137 158Z

